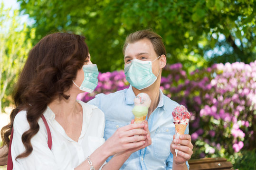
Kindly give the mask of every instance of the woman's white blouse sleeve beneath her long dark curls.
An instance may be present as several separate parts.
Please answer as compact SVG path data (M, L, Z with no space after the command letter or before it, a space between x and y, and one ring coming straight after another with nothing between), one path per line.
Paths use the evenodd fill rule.
M25 151L21 136L29 129L26 115L26 111L20 111L14 119L11 144L13 170L58 170L54 155L47 145L47 131L42 127L44 126L43 121L39 123L38 133L31 139L32 153L16 161L16 157ZM69 170L72 170L72 168Z

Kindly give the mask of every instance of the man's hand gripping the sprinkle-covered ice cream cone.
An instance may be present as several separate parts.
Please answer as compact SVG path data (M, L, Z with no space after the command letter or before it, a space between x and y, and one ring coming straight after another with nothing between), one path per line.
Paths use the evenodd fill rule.
M173 163L176 165L184 165L186 161L190 160L191 155L193 154L193 147L190 135L180 135L179 139L175 139L175 136L173 136L170 146L171 153L173 154ZM179 150L177 156L175 149Z

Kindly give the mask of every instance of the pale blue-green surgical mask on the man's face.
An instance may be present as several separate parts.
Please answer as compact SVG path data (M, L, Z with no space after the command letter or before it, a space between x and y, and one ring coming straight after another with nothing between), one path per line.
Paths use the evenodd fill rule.
M124 66L126 80L138 90L151 86L156 81L157 76L160 73L160 70L157 76L152 73L152 62L155 60L142 61L139 59L133 59L131 63Z

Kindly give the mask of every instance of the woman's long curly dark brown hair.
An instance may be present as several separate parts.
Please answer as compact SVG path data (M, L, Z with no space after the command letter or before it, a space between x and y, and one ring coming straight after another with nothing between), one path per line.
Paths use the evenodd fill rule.
M38 133L38 119L47 109L47 104L57 97L69 98L65 92L76 79L88 53L85 37L68 33L49 34L29 52L12 95L16 108L11 111L10 123L1 129L3 144L9 147L14 118L19 110L27 110L30 128L21 137L26 150L16 159L27 157L32 152L31 138Z

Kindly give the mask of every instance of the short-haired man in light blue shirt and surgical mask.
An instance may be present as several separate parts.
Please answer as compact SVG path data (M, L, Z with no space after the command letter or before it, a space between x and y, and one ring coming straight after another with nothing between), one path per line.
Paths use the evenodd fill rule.
M149 30L132 33L126 38L123 54L124 72L130 87L107 95L98 94L88 102L104 112L104 138L108 139L117 128L134 119L133 100L137 94L147 93L152 100L147 116L152 144L132 153L121 170L187 170L187 161L193 153L189 126L185 135L173 140L175 127L171 113L179 104L160 90L161 71L166 65L161 36ZM179 149L177 157L175 149Z

